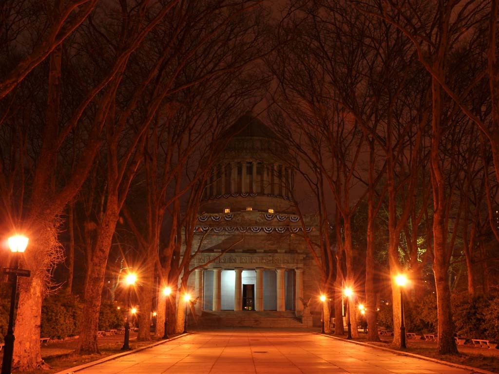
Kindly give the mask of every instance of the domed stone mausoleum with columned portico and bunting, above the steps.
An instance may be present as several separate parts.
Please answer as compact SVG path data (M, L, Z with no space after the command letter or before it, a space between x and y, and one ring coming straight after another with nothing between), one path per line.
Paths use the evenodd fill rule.
M287 150L260 120L245 114L205 188L195 227L189 278L198 314L294 311L317 297L318 269L304 231L317 235L314 217L302 224L293 201L294 171ZM311 303L315 305L315 303ZM318 306L317 306L318 307Z

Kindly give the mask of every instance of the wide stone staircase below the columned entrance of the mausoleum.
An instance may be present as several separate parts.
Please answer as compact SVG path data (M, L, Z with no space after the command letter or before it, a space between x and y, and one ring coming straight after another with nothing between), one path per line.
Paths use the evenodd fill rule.
M294 311L203 311L201 316L189 316L189 326L198 328L221 329L228 327L252 328L304 328L306 327L296 318Z

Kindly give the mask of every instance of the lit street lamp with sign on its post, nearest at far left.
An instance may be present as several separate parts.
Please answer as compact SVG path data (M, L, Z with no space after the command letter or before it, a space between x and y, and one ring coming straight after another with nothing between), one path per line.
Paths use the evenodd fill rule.
M19 269L19 255L24 252L28 245L28 238L25 236L12 236L8 238L8 246L10 252L13 253L11 267L3 268L3 273L8 274L8 280L12 285L12 293L10 294L10 310L8 313L8 328L7 334L3 337L5 347L3 350L3 359L1 364L1 374L10 374L12 368L12 355L14 353L14 308L15 295L17 293L17 276L29 277L29 270Z

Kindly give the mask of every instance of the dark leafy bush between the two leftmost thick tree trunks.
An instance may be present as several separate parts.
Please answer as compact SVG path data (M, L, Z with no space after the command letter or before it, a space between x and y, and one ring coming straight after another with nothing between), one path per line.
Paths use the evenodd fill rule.
M53 295L43 300L41 307L41 337L64 339L79 333L82 304L78 297Z

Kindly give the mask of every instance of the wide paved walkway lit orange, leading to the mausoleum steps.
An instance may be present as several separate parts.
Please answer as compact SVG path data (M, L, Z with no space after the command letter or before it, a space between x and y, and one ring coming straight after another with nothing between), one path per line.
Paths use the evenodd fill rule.
M309 332L190 334L77 374L470 374Z

